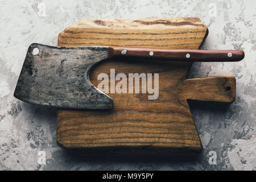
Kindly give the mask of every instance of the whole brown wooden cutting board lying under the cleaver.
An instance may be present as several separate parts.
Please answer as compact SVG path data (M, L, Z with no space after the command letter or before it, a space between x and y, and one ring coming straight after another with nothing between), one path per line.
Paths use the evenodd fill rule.
M82 19L59 34L58 46L197 49L208 29L199 18ZM233 76L185 80L191 62L110 59L90 74L159 73L159 97L108 93L112 110L58 110L57 143L85 154L173 154L202 150L187 100L233 102ZM116 81L117 83L118 81ZM207 121L205 121L207 122Z

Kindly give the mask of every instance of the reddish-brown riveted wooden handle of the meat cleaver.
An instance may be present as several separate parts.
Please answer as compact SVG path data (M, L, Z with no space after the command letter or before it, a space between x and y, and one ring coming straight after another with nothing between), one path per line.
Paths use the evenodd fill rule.
M196 49L152 49L110 47L109 57L132 56L170 61L240 61L245 57L243 51L235 50L196 50Z

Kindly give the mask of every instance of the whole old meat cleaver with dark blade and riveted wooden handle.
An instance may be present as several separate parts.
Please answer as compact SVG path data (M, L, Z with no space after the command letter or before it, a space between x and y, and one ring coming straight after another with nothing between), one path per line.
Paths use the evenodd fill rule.
M59 109L112 109L113 100L92 85L90 69L110 57L166 61L240 61L243 51L122 47L28 47L14 97Z

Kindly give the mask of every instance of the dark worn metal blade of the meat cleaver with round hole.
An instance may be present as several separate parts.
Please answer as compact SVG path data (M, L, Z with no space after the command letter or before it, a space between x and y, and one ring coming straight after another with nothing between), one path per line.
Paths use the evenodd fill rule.
M90 69L108 57L109 47L31 44L14 97L30 104L60 109L112 109L112 98L89 80Z

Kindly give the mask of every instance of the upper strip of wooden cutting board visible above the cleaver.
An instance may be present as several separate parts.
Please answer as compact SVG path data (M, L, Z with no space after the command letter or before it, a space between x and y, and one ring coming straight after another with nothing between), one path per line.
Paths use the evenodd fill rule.
M58 45L196 49L206 34L196 17L82 19L60 32Z

